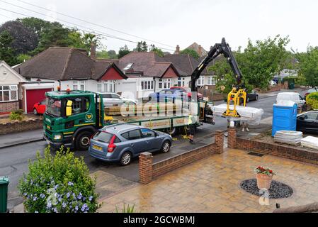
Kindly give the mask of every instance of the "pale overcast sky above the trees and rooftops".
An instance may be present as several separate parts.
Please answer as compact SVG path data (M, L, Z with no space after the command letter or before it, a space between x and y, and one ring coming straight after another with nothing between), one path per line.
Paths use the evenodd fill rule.
M47 16L19 9L3 1L45 13ZM55 21L62 19L86 27L82 28L84 30L89 28L96 33L107 33L136 42L147 38L165 45L151 41L147 41L148 44L168 48L170 52L176 45L184 49L193 42L209 50L211 45L220 43L222 37L236 50L239 46L245 47L248 38L265 39L277 34L290 35L289 49L305 51L308 45L318 45L318 1L315 0L23 0L142 38L76 21L18 0L3 1L0 1L1 9L48 21L54 21L53 18L56 18ZM9 18L23 17L1 9L0 23ZM136 45L114 38L107 38L103 43L107 50L116 52L125 44L130 49Z

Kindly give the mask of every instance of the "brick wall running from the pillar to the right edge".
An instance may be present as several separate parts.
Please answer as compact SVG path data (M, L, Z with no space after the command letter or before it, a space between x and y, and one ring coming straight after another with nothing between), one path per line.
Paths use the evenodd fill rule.
M285 157L291 160L318 165L318 153L302 148L290 148L289 146L280 145L278 143L263 143L257 140L237 138L237 149L253 150L257 153L276 155L278 157Z

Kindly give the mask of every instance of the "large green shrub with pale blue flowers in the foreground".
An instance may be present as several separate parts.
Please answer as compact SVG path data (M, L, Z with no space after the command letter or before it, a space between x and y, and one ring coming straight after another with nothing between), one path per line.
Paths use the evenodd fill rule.
M18 184L28 212L93 213L98 208L96 179L89 176L84 157L62 150L53 157L47 147L44 157L37 153L35 162L29 161L29 173Z

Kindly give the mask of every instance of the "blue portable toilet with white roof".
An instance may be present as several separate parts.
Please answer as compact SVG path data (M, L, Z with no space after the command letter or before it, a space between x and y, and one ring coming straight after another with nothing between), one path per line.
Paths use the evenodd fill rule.
M297 104L294 101L278 101L273 104L272 136L277 131L296 131Z

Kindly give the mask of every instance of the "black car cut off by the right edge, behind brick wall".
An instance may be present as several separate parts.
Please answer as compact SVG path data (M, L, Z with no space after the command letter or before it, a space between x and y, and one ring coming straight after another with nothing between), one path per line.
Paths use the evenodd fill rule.
M318 111L309 111L298 115L297 131L318 134Z

